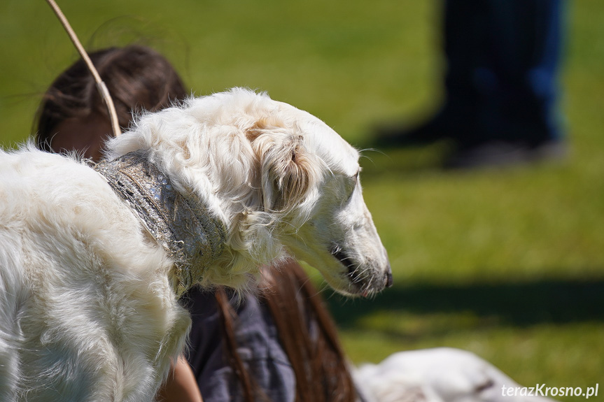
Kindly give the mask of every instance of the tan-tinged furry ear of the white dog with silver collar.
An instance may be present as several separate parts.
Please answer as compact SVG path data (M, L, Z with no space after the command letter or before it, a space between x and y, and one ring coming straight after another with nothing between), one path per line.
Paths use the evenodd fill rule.
M261 120L247 131L258 158L262 202L267 211L286 211L300 203L318 175L303 136L278 123Z

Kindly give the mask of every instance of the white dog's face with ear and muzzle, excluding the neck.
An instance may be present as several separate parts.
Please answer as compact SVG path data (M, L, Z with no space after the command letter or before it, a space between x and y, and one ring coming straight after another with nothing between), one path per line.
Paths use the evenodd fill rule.
M363 200L357 150L313 115L277 105L247 132L263 208L280 215L286 250L342 294L391 286L388 256Z

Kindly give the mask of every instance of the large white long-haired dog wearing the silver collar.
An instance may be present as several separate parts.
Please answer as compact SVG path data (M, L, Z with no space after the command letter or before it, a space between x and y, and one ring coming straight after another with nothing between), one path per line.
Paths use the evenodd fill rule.
M197 282L293 255L343 294L392 283L356 150L264 94L144 115L99 166L32 148L0 151L0 401L153 400Z

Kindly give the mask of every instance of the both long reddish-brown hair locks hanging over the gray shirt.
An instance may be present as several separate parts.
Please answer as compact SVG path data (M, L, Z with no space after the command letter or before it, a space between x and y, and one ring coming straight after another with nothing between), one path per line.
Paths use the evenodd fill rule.
M335 323L302 266L290 261L279 270L269 270L262 280L259 297L269 308L281 346L292 365L296 402L357 401ZM223 289L217 290L216 299L225 329L227 357L241 382L244 400L269 401L237 354L234 338L237 313Z

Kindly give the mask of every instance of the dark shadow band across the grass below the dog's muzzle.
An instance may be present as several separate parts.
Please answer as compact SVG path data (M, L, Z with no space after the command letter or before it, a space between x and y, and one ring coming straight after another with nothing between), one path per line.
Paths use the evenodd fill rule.
M338 325L378 312L472 313L500 324L531 326L604 321L604 278L470 285L418 284L386 289L372 300L328 300Z

